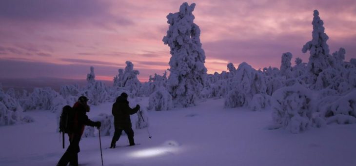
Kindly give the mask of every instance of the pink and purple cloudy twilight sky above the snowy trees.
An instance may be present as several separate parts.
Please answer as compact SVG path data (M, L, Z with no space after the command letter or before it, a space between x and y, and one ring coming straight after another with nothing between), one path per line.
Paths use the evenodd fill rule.
M0 79L85 79L112 81L126 61L138 79L163 74L170 48L162 38L166 16L180 0L1 0ZM188 0L200 27L208 73L247 62L254 68L280 66L281 55L308 62L302 46L312 39L317 9L329 36L330 53L344 47L356 58L355 0Z

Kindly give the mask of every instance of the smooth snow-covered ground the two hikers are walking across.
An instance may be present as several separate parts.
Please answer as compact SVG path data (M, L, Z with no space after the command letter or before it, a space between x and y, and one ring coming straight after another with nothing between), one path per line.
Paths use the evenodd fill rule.
M89 118L100 111L111 113L111 105L92 106ZM266 129L270 110L222 107L223 100L207 100L195 107L149 112L152 139L146 129L134 129L140 145L127 147L122 136L117 148L105 149L111 136L101 138L104 166L356 166L356 125L291 134ZM36 122L0 127L0 166L55 166L65 150L56 115L25 114ZM98 137L82 138L80 148L80 165L101 165Z

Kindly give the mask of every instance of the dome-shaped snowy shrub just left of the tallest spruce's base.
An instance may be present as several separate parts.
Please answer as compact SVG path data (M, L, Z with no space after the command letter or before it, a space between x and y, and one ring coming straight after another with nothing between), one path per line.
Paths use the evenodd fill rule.
M148 109L150 110L163 111L173 107L172 96L163 87L152 93L148 101Z

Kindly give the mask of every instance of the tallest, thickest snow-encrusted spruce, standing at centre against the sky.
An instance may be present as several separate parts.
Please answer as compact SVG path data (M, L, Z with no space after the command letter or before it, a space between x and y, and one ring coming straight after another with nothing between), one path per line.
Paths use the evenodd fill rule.
M200 29L193 21L195 3L180 5L179 12L167 16L169 29L163 37L164 44L171 48L167 90L172 95L175 107L196 104L205 85L207 69L205 53L201 48Z

